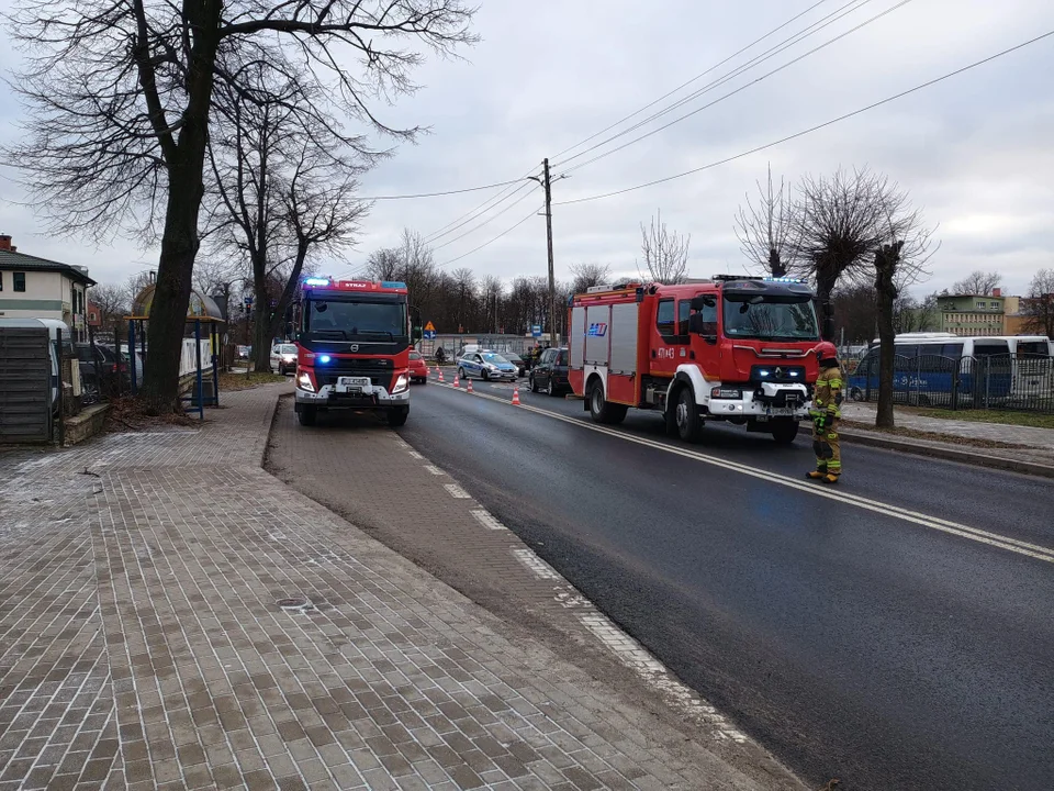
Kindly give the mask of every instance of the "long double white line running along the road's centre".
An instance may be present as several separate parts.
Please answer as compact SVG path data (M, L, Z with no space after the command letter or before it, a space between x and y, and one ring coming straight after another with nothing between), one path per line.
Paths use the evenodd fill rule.
M489 399L491 401L496 401L497 403L508 404L507 400L503 398L498 398L496 396L487 396L485 393L473 393L473 394L476 396L478 398ZM823 488L822 484L799 481L796 478L790 478L789 476L780 475L778 472L770 472L759 467L750 467L748 465L740 464L738 461L731 461L729 459L721 458L718 456L711 456L709 454L705 454L698 450L692 450L684 447L676 447L674 445L665 445L663 443L659 443L653 439L648 439L646 437L635 436L632 434L616 431L614 428L608 428L606 426L597 425L594 423L586 423L585 421L578 420L575 417L568 417L567 415L562 415L557 412L550 412L549 410L539 409L538 406L523 404L520 409L528 412L536 412L540 415L545 415L546 417L551 417L552 420L570 423L571 425L579 426L580 428L586 428L588 431L597 432L599 434L607 434L608 436L617 437L625 442L630 442L637 445L643 445L646 447L653 448L655 450L662 450L664 453L674 454L676 456L691 458L696 461L702 461L703 464L708 464L713 467L719 467L724 470L739 472L741 475L769 481L770 483L776 483L778 486L783 486L788 489L796 489L807 494L811 494L812 497L833 500L836 502L844 503L846 505L854 505L865 511L872 511L874 513L883 514L884 516L892 516L894 519L899 519L899 520L902 520L904 522L910 522L911 524L917 524L922 527L929 527L930 530L939 531L941 533L948 533L950 535L955 535L961 538L968 538L969 541L977 542L979 544L987 544L988 546L998 547L999 549L1007 549L1008 552L1017 553L1019 555L1024 555L1025 557L1031 557L1035 560L1054 562L1054 548L1040 546L1039 544L1030 544L1028 542L1022 542L1017 538L1003 536L998 533L983 531L977 527L969 527L968 525L960 524L957 522L951 522L949 520L943 520L938 516L930 516L929 514L920 513L918 511L911 511L910 509L900 508L899 505L890 505L888 503L884 503L878 500L872 500L870 498L861 497L859 494L845 492L844 490L832 490L829 488Z

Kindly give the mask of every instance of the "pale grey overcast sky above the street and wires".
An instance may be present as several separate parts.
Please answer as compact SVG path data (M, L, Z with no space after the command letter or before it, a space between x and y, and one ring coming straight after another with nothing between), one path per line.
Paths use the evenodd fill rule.
M559 153L658 99L769 33L816 0L481 0L474 27L482 42L463 62L429 60L416 73L414 97L383 108L392 125L431 133L363 179L368 196L433 192L517 179L587 146ZM751 56L820 20L848 0L827 0L801 21L676 93L650 112L705 87ZM761 77L899 0L861 0L859 9L796 47L710 90L633 134L574 159L565 168L625 143L686 111ZM11 0L0 0L9 8ZM1054 30L1051 0L911 0L840 42L736 96L553 185L559 202L631 187L776 141L911 88ZM10 53L0 64L10 68ZM895 103L765 152L668 183L553 210L557 276L579 261L636 272L640 223L658 210L672 230L692 235L695 277L742 271L733 215L769 163L788 180L867 165L907 189L942 247L919 292L948 286L972 269L998 269L1011 292L1032 272L1054 267L1054 37ZM20 111L4 89L0 135L18 133ZM643 116L637 116L639 121ZM625 126L617 127L618 132ZM603 141L597 137L588 145ZM564 167L556 167L560 174ZM103 282L156 265L157 252L117 241L101 249L49 237L4 166L0 232L21 252L86 265ZM530 194L478 231L486 214L437 241L446 263L494 238L541 204ZM354 271L377 247L395 244L403 227L431 234L492 192L380 201L358 249L325 261L333 275ZM494 213L528 193L515 193ZM516 230L450 268L511 279L546 274L545 219Z

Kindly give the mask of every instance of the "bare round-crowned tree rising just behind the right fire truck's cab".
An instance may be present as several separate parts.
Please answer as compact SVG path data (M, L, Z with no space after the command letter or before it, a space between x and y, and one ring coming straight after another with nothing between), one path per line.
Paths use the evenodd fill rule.
M834 287L842 279L866 281L874 253L886 238L887 190L888 179L867 168L801 179L790 268L815 280L821 334L828 341L834 338Z

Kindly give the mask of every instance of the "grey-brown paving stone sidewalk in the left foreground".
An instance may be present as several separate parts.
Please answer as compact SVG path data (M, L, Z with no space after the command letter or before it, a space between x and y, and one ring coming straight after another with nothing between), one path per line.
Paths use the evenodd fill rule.
M761 788L260 469L283 387L0 455L0 791Z

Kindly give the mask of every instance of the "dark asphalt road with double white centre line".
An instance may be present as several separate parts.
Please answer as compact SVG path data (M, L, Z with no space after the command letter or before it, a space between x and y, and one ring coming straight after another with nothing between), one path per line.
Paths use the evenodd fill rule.
M401 435L803 777L1054 788L1050 481L848 445L820 489L805 437L474 385Z

